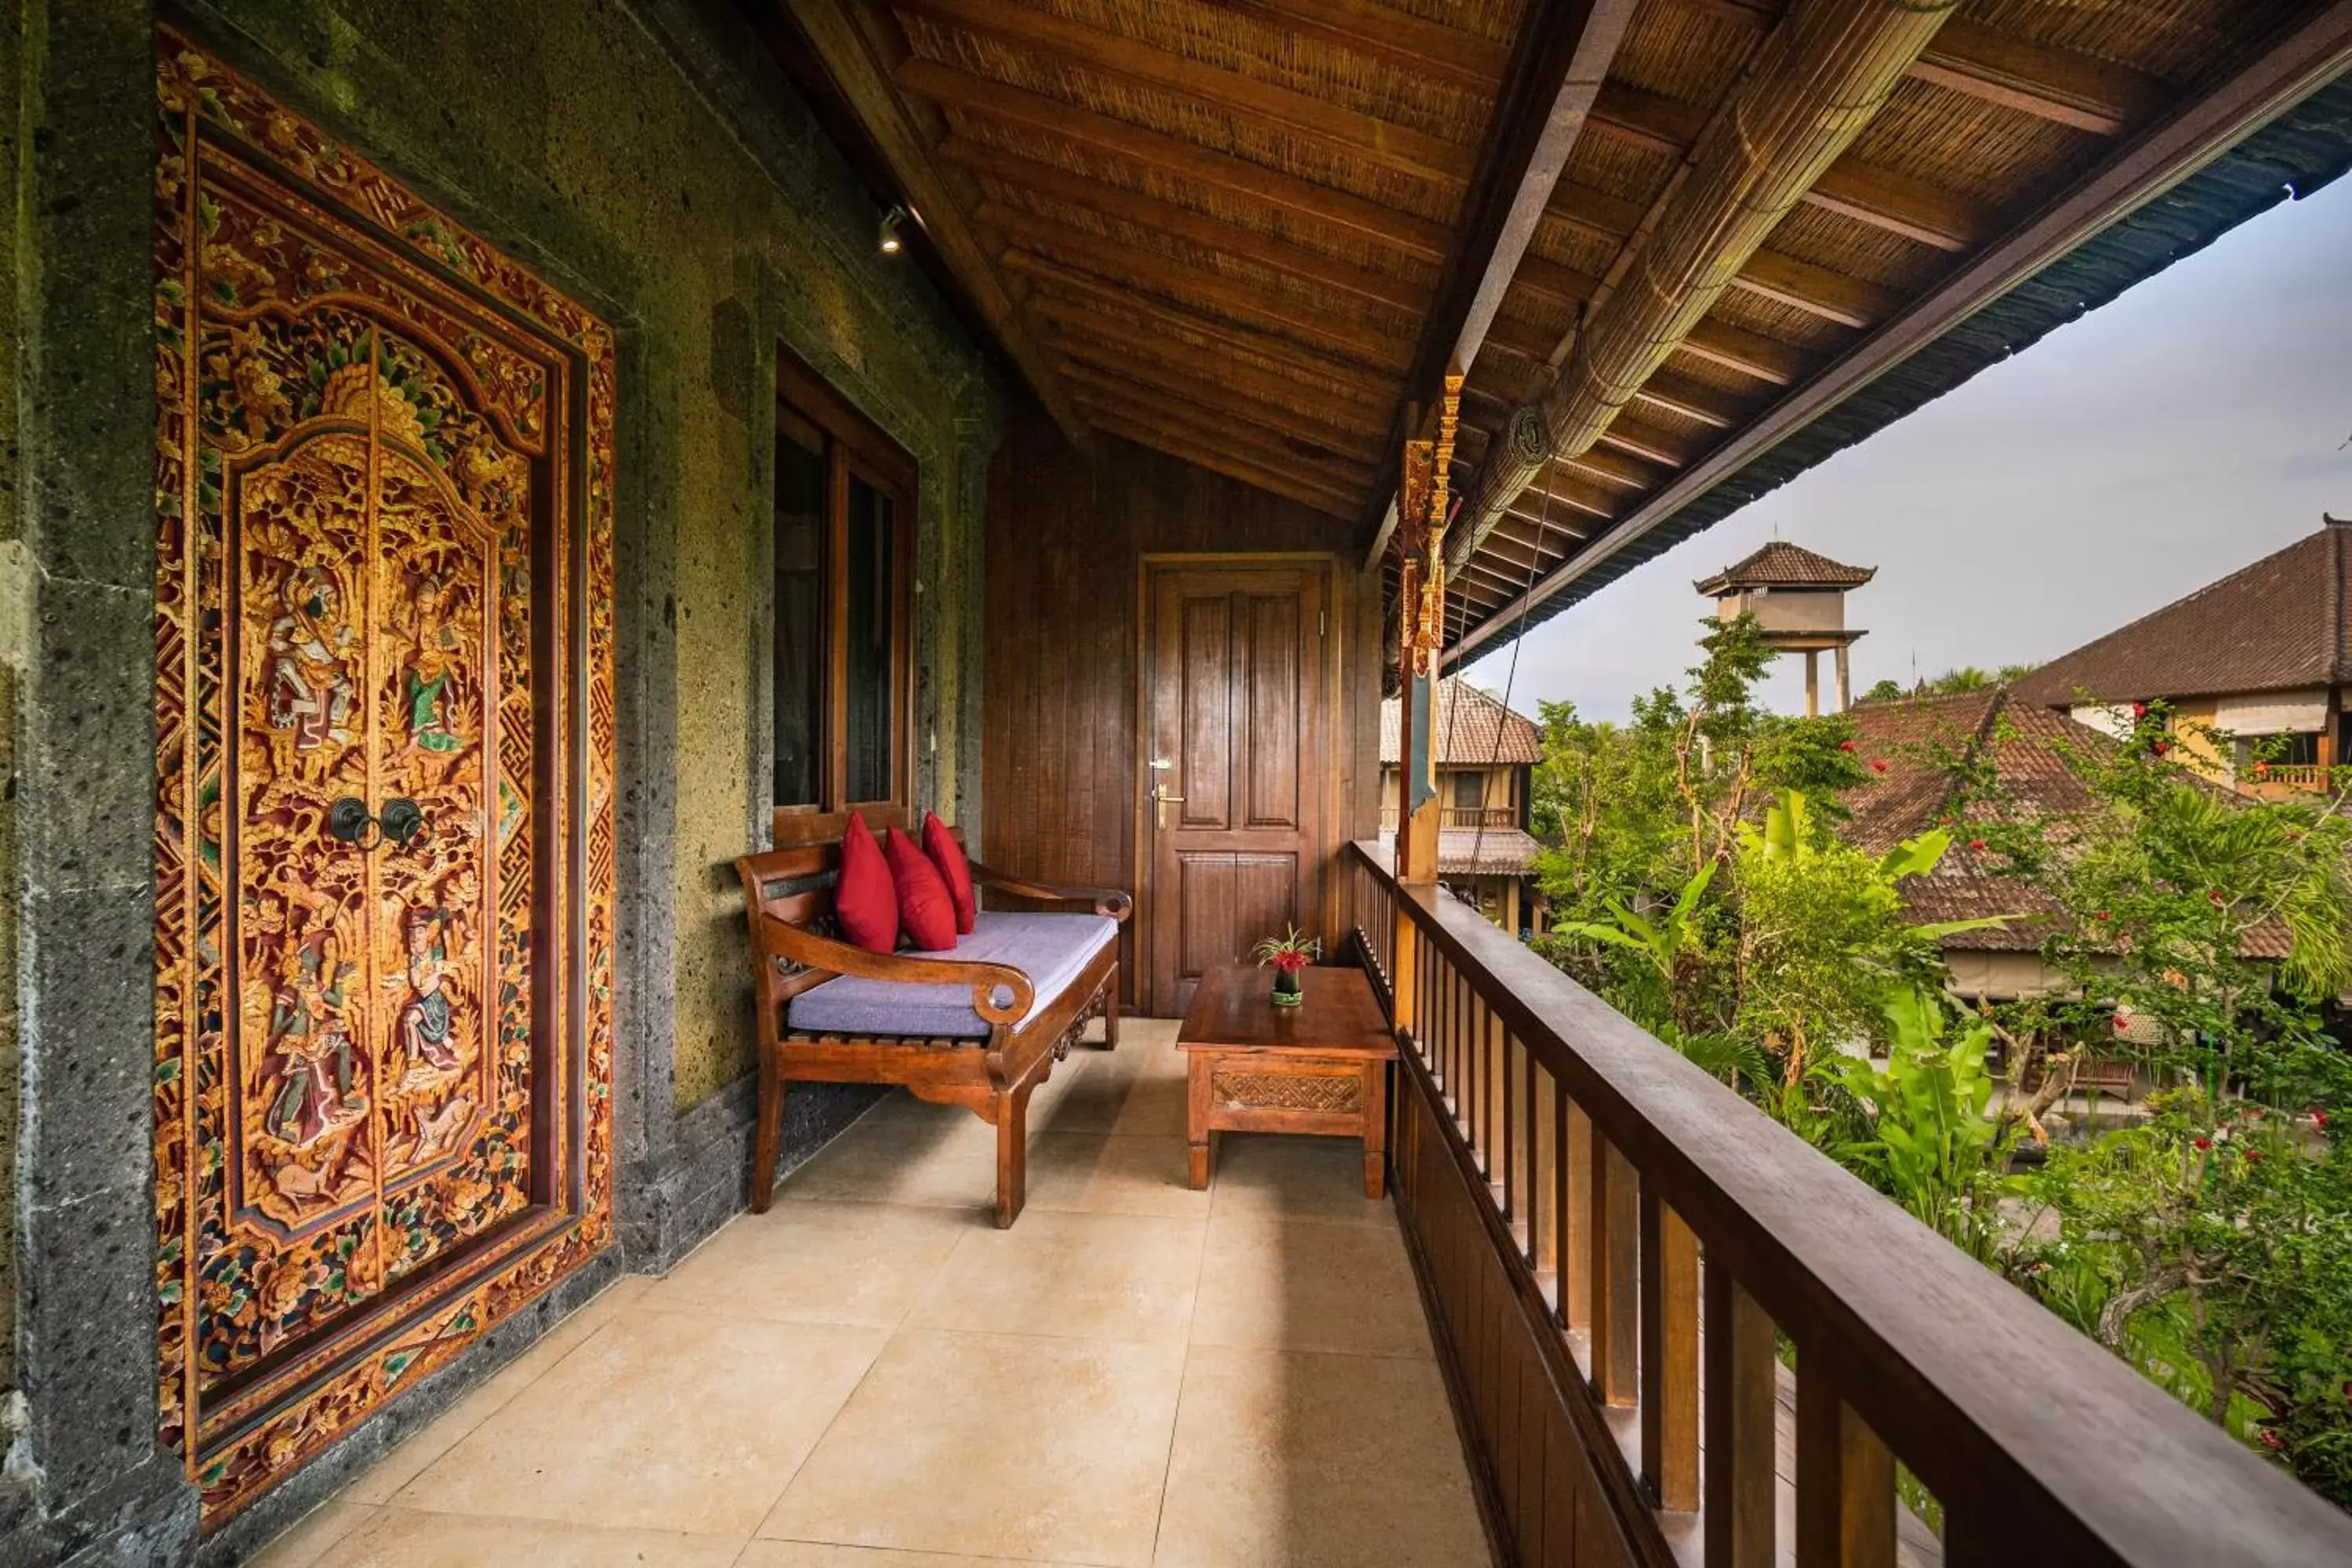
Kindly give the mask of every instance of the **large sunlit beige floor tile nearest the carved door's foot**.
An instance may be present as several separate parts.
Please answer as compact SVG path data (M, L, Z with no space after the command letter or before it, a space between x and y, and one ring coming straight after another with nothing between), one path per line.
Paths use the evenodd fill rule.
M748 1537L884 1338L833 1324L623 1312L397 1502Z

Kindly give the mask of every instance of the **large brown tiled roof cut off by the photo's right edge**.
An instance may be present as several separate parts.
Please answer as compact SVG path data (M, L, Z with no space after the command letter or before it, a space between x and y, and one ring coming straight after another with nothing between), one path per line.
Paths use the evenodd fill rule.
M2352 682L2352 522L2326 522L2185 599L2053 658L2018 696L2065 708Z

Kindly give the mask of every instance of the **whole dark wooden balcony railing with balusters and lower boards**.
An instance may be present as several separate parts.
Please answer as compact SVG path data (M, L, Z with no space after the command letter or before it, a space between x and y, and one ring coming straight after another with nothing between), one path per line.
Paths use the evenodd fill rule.
M1345 856L1397 1020L1397 1206L1505 1561L1886 1568L1898 1460L1955 1566L2352 1561L2352 1519L1381 846Z

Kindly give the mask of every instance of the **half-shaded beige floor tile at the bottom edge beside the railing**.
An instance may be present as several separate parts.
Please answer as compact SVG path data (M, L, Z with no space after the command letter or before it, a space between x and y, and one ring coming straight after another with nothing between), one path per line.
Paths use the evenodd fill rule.
M1486 1563L1437 1366L1195 1347L1152 1561Z

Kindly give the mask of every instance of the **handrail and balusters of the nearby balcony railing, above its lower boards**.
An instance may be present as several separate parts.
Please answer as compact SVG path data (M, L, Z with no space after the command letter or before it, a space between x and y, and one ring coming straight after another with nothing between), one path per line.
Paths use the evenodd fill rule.
M1668 1561L1693 1519L1656 1507L1661 1495L1686 1502L1696 1476L1686 1227L1710 1324L1724 1326L1705 1345L1708 1389L1736 1382L1736 1366L1750 1394L1745 1410L1705 1410L1698 1516L1722 1514L1708 1519L1722 1542L1708 1542L1705 1561L1748 1561L1726 1542L1752 1544L1757 1500L1764 1519L1771 1507L1771 1443L1757 1455L1752 1415L1757 1387L1769 1410L1771 1363L1757 1345L1771 1335L1755 1312L1797 1345L1799 1561L1886 1561L1835 1542L1884 1533L1893 1552L1893 1458L1943 1505L1952 1563L2352 1561L2352 1519L1475 910L1399 884L1378 844L1345 853L1367 969L1404 992L1392 1001L1399 1067L1444 1105L1456 1159L1486 1201L1486 1237L1573 1366L1571 1399L1592 1418L1576 1427L1604 1490L1621 1514L1649 1514L1625 1521L1635 1540L1646 1530L1639 1556ZM1637 1197L1611 1171L1630 1171ZM1658 1255L1639 1253L1642 1237ZM1581 1314L1590 1335L1571 1333ZM1632 1387L1625 1352L1644 1328L1663 1361ZM1738 1432L1745 1441L1729 1441ZM1733 1474L1738 1455L1762 1479Z

